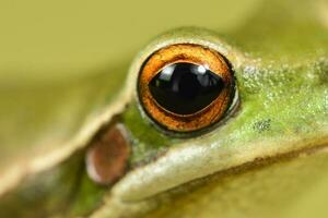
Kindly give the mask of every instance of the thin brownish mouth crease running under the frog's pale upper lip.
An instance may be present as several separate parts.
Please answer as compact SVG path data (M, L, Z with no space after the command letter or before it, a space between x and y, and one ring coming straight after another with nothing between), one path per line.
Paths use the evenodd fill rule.
M246 161L242 165L222 169L213 173L207 174L206 177L202 178L189 180L185 183L178 184L171 189L154 193L152 195L148 195L145 197L140 197L138 199L127 199L124 198L126 196L119 195L121 193L112 191L109 198L106 199L104 205L99 208L97 213L95 213L95 215L103 214L103 213L110 214L113 213L112 209L114 209L115 211L117 209L116 213L118 214L126 211L126 213L131 213L131 215L136 213L139 214L141 211L143 213L153 211L159 207L159 205L162 205L162 203L167 203L167 199L175 199L175 198L178 199L179 197L183 197L186 194L188 195L190 193L197 192L198 189L206 187L215 182L225 181L225 183L226 182L230 183L232 182L232 180L234 180L235 177L243 175L248 172L256 172L256 171L261 172L262 170L269 168L270 166L274 166L277 164L284 164L284 162L288 164L288 162L292 162L292 160L296 160L297 158L306 158L313 155L319 155L323 153L325 154L327 152L328 152L328 136L325 136L324 138L320 138L320 142L316 142L316 144L312 144L300 149L277 154L273 156L262 156L262 157L254 158L253 160ZM272 177L274 177L274 174L272 174ZM229 178L231 178L232 180L226 180ZM223 185L225 183L223 183ZM212 192L212 189L210 189L210 192Z

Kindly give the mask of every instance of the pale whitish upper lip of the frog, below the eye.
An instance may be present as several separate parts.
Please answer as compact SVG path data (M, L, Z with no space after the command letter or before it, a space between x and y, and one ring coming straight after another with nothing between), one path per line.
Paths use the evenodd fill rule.
M277 147L277 143L250 143L257 150L251 150L248 146L237 150L225 150L220 145L210 148L188 145L179 150L168 150L155 162L128 173L113 187L112 194L126 203L143 201L186 184L202 182L204 178L213 174L243 172L254 167L288 161L325 150L328 147L328 136L306 141L289 138L285 142L280 141L281 146L289 145L282 147Z

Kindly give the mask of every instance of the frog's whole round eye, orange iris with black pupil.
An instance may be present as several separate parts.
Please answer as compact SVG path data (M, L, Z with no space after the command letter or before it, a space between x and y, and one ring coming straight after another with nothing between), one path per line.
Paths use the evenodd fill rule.
M152 53L139 78L139 100L160 126L192 132L220 121L234 97L225 58L200 45L177 44Z

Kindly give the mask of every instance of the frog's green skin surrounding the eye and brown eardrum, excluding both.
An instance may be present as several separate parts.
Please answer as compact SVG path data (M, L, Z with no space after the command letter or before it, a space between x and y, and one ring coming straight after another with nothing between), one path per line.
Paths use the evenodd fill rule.
M297 1L294 9L294 3L263 5L244 26L225 35L196 27L167 32L136 57L127 76L121 73L125 64L112 69L118 73L104 69L78 82L68 77L58 86L54 83L55 97L40 92L42 85L9 87L0 121L7 126L1 128L5 146L0 217L327 214L325 206L315 206L324 201L318 194L323 191L308 190L325 180L328 167L328 19L309 8L328 5ZM282 9L293 10L286 14ZM167 134L150 122L137 97L143 61L159 48L179 43L222 53L232 64L238 95L238 107L218 125L187 137ZM38 117L24 126L20 138L11 134L23 130L17 129L20 110L12 101L16 96ZM92 100L82 102L85 98ZM37 110L38 99L46 100ZM85 147L116 114L131 137L130 168L113 186L102 186L87 177ZM33 145L25 145L27 141ZM308 199L300 201L302 196Z

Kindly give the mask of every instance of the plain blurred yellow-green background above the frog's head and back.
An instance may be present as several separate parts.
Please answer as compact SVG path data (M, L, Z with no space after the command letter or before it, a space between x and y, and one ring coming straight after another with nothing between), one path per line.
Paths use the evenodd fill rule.
M1 0L1 81L17 74L54 80L117 64L173 27L229 32L247 22L258 2Z

